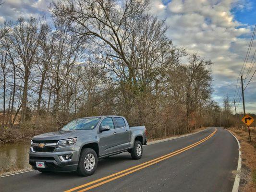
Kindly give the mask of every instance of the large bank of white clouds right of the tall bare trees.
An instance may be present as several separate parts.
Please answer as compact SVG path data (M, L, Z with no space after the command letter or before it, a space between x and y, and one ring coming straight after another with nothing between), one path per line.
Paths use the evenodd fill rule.
M245 0L171 0L164 12L157 14L166 18L167 36L175 45L214 62L213 85L217 100L234 91L244 62L250 39L241 36L251 36L253 26L236 21L231 10L247 9L246 6ZM223 84L232 89L220 92L218 87ZM252 110L256 112L256 107Z

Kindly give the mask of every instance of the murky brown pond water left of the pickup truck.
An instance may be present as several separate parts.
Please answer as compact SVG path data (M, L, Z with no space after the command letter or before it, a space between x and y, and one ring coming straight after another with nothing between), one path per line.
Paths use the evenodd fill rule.
M0 146L0 173L31 168L28 163L30 141Z

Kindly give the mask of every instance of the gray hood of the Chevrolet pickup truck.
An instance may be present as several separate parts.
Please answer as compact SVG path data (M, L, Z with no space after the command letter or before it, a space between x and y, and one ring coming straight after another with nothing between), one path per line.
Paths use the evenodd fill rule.
M32 140L61 140L71 138L73 133L79 132L78 130L71 131L58 131L58 132L48 132L40 135L36 135ZM73 138L73 137L72 137Z

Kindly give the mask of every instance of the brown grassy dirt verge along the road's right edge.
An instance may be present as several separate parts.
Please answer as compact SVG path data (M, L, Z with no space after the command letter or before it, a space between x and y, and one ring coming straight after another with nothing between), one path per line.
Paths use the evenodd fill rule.
M248 131L237 128L229 130L241 144L242 169L239 192L256 192L256 132L251 132L251 142L249 142Z

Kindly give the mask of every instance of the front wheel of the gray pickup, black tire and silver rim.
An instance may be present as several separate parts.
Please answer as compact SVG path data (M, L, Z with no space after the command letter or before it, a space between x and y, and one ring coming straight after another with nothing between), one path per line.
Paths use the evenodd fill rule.
M88 162L89 159L91 159L91 162ZM94 163L93 163L93 159L94 159ZM92 175L95 172L97 165L98 165L98 157L96 152L91 148L85 148L81 151L81 154L79 157L77 173L81 176Z

